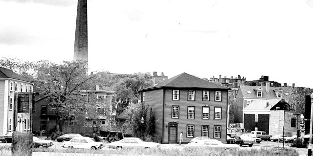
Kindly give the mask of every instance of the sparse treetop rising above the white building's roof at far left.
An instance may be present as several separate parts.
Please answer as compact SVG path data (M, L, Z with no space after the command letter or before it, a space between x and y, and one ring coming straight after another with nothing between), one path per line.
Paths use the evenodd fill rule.
M7 68L24 78L33 79L37 73L37 63L21 59L0 58L0 67Z

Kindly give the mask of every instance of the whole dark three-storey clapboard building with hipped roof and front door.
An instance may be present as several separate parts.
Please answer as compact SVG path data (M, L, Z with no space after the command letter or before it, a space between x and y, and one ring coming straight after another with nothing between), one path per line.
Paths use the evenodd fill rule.
M155 113L155 132L162 143L194 137L226 141L227 91L224 87L187 73L140 90L141 100Z

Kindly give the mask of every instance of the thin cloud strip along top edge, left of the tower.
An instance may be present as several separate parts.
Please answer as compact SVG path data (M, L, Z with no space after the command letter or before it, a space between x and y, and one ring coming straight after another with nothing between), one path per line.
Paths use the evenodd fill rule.
M2 0L5 2L18 2L18 3L39 3L53 6L71 6L77 3L77 0Z

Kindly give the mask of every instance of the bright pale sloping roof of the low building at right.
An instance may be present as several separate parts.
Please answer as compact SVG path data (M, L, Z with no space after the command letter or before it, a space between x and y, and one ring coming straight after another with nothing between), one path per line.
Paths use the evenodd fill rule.
M282 98L273 98L273 99L255 99L243 111L269 111L274 107ZM267 106L268 102L268 106Z

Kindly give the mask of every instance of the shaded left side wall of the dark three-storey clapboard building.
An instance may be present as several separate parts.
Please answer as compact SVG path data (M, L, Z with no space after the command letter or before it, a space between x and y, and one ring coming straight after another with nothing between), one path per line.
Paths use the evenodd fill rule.
M155 113L155 132L161 138L163 130L163 90L152 90L145 92L145 94L146 99L144 103L149 104L149 107L152 107L152 111ZM150 108L148 111L150 112Z

